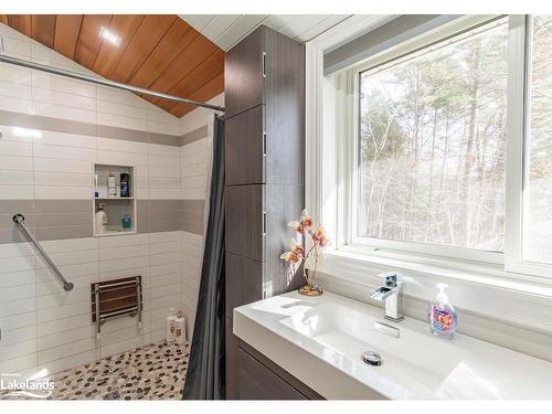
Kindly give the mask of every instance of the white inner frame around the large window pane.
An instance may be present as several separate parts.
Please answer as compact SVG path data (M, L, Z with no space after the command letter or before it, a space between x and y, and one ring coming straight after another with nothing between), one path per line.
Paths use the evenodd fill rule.
M443 246L418 242L363 237L355 234L358 205L358 145L360 116L360 75L367 71L380 71L417 51L431 47L447 39L461 35L481 25L507 19L508 24L508 79L507 79L507 160L506 160L506 224L503 252L490 252L469 247ZM413 263L442 264L446 267L482 269L487 273L511 273L513 278L521 275L552 277L552 265L523 261L523 189L527 150L529 148L529 104L530 104L530 15L465 15L436 30L403 42L372 59L357 64L332 76L336 88L336 178L337 220L335 222L335 248L342 252L372 257L401 257ZM520 59L520 56L522 59ZM513 109L512 109L513 108ZM357 191L355 191L357 190ZM523 278L523 277L521 277Z

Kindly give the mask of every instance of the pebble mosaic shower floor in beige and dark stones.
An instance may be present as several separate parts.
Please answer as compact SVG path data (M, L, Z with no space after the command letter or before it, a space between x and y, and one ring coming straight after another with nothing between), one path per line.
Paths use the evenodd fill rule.
M190 344L155 343L59 372L53 391L0 392L0 400L180 400Z

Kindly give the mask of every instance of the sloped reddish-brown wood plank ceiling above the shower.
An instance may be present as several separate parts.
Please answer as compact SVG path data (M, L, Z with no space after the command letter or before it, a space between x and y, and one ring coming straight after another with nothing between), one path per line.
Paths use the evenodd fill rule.
M0 14L0 22L113 81L200 102L224 91L224 52L176 14ZM100 28L120 44L104 41ZM142 97L178 117L195 108Z

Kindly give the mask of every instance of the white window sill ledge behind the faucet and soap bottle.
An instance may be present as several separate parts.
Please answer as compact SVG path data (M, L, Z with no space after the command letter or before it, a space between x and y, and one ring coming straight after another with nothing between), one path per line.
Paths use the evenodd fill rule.
M422 264L376 252L360 254L354 248L328 252L319 265L322 282L346 282L365 289L380 286L379 275L390 270L403 275L404 295L413 299L432 300L437 291L435 285L446 283L450 301L460 310L546 335L552 332L550 279L512 275L495 266L485 268L460 261Z

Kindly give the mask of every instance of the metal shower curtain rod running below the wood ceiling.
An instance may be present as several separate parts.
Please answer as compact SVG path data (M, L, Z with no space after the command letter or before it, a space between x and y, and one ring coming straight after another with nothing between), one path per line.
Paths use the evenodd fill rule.
M135 92L138 94L151 95L151 96L156 96L156 97L161 98L161 99L178 102L180 104L201 106L203 108L219 110L222 113L225 110L223 106L205 104L202 102L181 98L179 96L168 95L168 94L163 94L161 92L149 91L149 89L145 89L142 87L131 86L131 85L123 84L119 82L114 82L114 81L109 81L109 79L102 79L102 78L97 78L97 77L89 76L89 75L83 75L83 74L79 74L76 72L71 72L71 71L65 71L65 70L57 68L57 67L46 66L46 65L42 65L40 63L23 61L21 59L11 57L11 56L7 56L3 54L0 54L0 62L10 63L10 64L17 65L17 66L29 67L29 68L33 68L36 71L53 73L54 75L72 77L74 79L79 79L79 81L84 81L84 82L91 82L91 83L95 83L98 85L115 87L117 89L124 89L124 91Z

